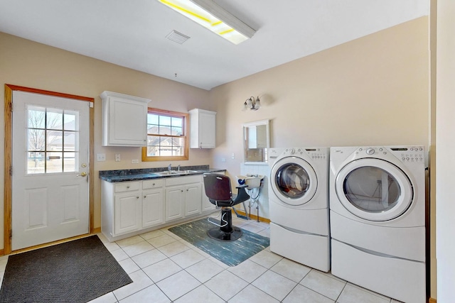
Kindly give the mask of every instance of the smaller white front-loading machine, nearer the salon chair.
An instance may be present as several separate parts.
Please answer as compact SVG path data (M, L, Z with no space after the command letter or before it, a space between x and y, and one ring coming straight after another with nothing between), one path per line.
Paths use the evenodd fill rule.
M328 160L328 148L284 148L269 161L270 250L325 272L330 270Z

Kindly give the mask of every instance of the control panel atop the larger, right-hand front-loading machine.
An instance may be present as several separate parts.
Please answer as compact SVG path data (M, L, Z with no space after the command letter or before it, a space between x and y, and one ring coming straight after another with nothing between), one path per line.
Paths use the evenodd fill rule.
M366 155L387 155L387 153L392 153L404 163L423 163L425 161L425 150L423 146L358 148L357 153L365 153Z

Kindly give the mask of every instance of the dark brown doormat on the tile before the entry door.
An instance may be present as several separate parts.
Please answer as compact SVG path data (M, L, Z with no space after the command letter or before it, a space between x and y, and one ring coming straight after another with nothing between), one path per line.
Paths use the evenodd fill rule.
M131 283L97 236L10 255L0 302L87 302Z

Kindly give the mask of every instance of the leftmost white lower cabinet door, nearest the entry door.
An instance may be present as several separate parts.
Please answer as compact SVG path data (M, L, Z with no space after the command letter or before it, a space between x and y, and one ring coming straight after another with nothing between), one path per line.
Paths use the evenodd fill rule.
M141 197L139 192L115 195L114 235L141 228Z

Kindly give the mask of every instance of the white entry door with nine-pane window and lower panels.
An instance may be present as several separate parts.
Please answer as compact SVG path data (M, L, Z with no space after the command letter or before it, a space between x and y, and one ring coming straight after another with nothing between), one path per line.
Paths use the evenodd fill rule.
M13 92L12 250L88 233L89 107Z

